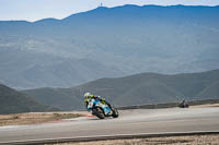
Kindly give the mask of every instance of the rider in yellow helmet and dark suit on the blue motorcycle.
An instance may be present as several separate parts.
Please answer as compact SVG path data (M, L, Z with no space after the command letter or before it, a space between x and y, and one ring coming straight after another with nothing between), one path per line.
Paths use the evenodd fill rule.
M91 93L85 93L84 94L84 105L88 109L88 105L89 105L89 101L91 99L99 99L103 105L107 105L111 109L111 105L105 100L105 98L101 97L101 96L96 96L96 95L92 95Z

